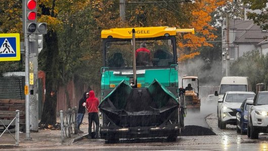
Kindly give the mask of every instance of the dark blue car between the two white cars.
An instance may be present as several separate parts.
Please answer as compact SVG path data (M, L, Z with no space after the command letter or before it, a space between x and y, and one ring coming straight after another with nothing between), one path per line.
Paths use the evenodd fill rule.
M249 104L253 104L254 98L247 98L243 101L242 105L237 110L236 113L236 131L242 135L247 134L248 129L248 109Z

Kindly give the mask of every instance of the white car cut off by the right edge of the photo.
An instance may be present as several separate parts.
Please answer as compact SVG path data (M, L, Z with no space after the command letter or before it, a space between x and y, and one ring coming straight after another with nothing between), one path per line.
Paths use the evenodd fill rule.
M268 133L268 91L258 92L248 111L248 137L258 139L260 132Z

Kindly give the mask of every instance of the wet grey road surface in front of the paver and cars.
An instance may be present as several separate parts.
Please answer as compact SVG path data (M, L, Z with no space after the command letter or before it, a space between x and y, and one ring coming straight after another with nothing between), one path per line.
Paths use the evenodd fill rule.
M215 135L179 136L174 142L168 142L166 138L120 139L119 143L114 144L105 144L103 139L83 137L80 141L65 146L13 148L12 150L268 150L267 135L260 135L259 139L250 139L247 135L238 134L234 125L219 129L216 104L203 103L202 105L200 114L188 113L185 127L204 126L204 129L211 130Z

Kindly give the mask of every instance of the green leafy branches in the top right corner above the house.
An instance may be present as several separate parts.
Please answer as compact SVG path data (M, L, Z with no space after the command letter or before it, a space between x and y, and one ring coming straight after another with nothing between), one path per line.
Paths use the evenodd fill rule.
M247 12L247 17L252 19L255 24L259 25L263 30L268 29L268 1L267 0L242 0L249 6L251 10L260 10L261 13Z

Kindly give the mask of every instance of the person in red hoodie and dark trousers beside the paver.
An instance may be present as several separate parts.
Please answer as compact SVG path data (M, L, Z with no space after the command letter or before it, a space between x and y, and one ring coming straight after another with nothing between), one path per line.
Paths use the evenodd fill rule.
M98 98L95 97L94 91L90 91L90 96L86 99L86 108L88 112L88 138L100 138L99 137L99 128L100 128L100 121L99 121L99 106L100 102ZM93 121L96 124L96 131L95 136L92 136L91 129Z

